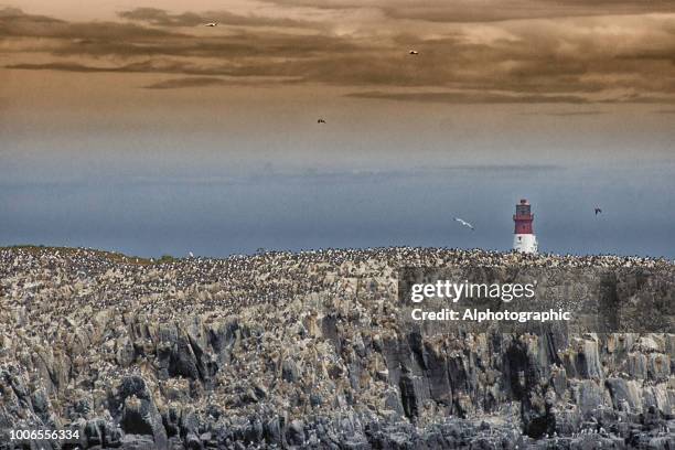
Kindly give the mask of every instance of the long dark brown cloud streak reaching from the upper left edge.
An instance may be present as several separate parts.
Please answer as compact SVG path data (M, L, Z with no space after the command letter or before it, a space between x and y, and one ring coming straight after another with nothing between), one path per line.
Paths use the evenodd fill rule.
M242 29L227 35L194 35L131 22L66 22L26 14L17 9L0 10L0 38L3 36L50 40L33 42L33 52L96 57L160 55L222 61L228 57L256 56L312 57L319 54L346 53L354 49L346 39L321 34L304 35L270 30L254 32Z

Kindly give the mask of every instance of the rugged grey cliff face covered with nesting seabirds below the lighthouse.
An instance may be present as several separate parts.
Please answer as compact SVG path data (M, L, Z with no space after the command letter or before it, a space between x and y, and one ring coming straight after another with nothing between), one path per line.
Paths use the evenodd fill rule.
M675 267L651 259L4 249L0 449L21 448L10 429L64 428L79 438L32 444L674 448L675 334L428 333L401 318L403 266L536 278L543 298L601 307L604 329L667 329L675 304Z

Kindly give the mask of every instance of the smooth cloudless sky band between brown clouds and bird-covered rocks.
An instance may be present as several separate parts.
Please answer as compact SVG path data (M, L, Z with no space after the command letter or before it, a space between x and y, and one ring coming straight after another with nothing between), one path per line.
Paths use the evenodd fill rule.
M675 111L663 105L128 85L103 101L119 81L79 76L22 74L28 87L12 93L44 105L13 101L0 116L0 245L508 250L525 197L543 251L675 258Z

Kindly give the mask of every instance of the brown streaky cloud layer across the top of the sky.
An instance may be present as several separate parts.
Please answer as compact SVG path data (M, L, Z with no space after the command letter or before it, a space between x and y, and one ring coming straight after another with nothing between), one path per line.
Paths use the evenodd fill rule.
M322 84L361 98L417 101L675 99L672 0L138 4L7 6L0 9L4 66L152 74L142 86L152 89ZM203 26L212 21L219 26Z

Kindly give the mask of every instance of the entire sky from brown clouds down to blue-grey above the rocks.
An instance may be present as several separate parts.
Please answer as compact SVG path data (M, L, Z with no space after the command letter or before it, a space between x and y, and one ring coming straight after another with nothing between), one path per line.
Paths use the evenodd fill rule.
M270 246L301 247L303 235L318 246L372 244L389 210L372 213L371 228L352 240L340 229L321 234L322 207L343 202L342 188L355 202L389 195L392 208L407 202L405 192L417 192L408 200L419 204L442 191L460 211L467 199L486 204L499 191L506 227L521 195L542 193L550 214L557 201L571 210L602 199L621 210L632 199L665 236L675 222L663 194L675 189L674 118L672 0L2 3L0 212L15 219L0 226L0 244L182 251L188 244L167 243L186 225L164 243L139 244L156 235L144 212L203 218L214 207L236 214L246 202L275 210L270 195L285 189L294 200L282 211L270 217L249 205L249 222L232 231L249 244L217 253L255 248L260 236L246 231L261 221ZM480 189L464 182L475 176ZM378 178L395 184L381 191ZM465 180L451 190L420 181L452 178ZM256 188L232 188L242 183ZM368 217L350 202L336 208ZM86 232L74 227L72 217L93 211L103 218ZM126 228L85 238L114 218ZM130 240L133 223L150 237ZM287 240L268 238L275 229L287 229ZM617 239L629 232L615 229ZM415 225L392 233L406 243ZM500 233L473 244L499 247ZM580 239L579 250L588 244ZM624 249L611 239L593 248L640 253L632 239Z

